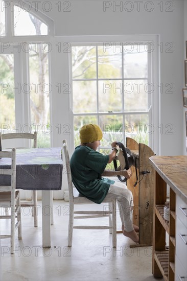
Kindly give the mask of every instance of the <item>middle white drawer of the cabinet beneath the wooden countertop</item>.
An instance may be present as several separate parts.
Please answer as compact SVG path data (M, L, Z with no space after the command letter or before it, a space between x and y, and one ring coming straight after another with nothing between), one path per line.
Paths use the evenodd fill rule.
M186 268L187 265L187 229L177 217L176 221L176 255L181 264Z

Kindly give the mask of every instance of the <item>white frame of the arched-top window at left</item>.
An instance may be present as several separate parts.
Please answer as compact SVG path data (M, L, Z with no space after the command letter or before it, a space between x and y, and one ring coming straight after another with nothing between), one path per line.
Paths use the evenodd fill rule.
M13 6L22 8L28 7L29 13L39 18L44 24L48 26L48 35L32 35L32 36L15 36L14 35L14 13ZM28 10L29 10L28 9ZM29 53L25 52L22 46L25 43L29 44L42 44L53 41L54 37L54 22L52 19L41 13L24 1L12 1L10 5L5 7L5 23L6 35L1 37L1 53L14 55L14 82L15 86L20 83L21 85L30 83L29 80ZM50 54L49 54L49 83L51 83L50 74ZM50 97L51 99L51 97ZM51 115L51 112L50 112ZM30 93L18 92L16 95L15 90L15 128L20 128L24 124L31 123L31 110L30 110Z

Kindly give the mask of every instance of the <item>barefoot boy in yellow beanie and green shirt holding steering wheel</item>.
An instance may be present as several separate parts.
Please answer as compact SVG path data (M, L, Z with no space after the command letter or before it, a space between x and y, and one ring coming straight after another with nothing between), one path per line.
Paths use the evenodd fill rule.
M111 152L103 155L97 151L103 132L98 125L87 124L80 129L81 144L75 148L70 165L72 181L76 189L89 200L100 204L107 194L112 194L120 209L123 235L138 242L138 227L132 224L133 197L125 184L103 178L102 176L125 176L130 178L131 169L121 171L105 170L119 150L115 142L111 143Z

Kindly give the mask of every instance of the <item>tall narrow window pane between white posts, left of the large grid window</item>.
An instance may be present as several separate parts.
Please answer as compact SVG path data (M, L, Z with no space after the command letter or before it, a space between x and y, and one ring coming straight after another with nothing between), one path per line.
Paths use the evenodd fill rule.
M50 83L48 44L31 44L29 52L31 124L39 147L50 147Z

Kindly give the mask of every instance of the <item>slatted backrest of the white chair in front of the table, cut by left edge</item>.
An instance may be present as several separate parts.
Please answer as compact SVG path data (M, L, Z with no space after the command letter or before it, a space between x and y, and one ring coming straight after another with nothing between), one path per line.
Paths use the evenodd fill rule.
M15 205L15 186L16 186L16 149L11 151L0 151L1 158L11 158L11 169L1 168L1 176L11 176L11 185L2 185L0 180L1 191L11 191L11 203ZM1 196L1 195L0 195Z

